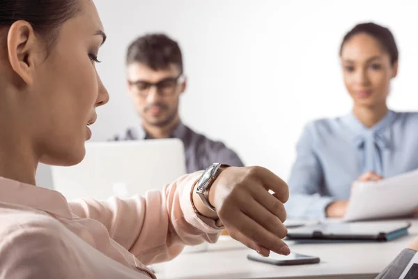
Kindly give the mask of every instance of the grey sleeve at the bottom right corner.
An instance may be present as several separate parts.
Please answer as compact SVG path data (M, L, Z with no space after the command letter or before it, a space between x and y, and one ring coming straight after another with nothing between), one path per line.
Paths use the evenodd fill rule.
M376 279L398 279L406 267L410 263L412 257L414 257L417 251L411 249L404 249L402 252L394 259L394 261L386 267L382 273L376 277ZM405 279L415 279L418 278L418 263L414 264L412 268L408 271L405 276Z

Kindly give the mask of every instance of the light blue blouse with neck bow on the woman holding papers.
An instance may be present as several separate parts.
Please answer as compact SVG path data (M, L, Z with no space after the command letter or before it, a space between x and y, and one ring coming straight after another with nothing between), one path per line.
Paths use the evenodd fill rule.
M418 169L418 112L392 112L372 128L353 114L309 123L297 144L297 158L285 204L288 218L325 218L334 200L347 200L366 172L390 177Z

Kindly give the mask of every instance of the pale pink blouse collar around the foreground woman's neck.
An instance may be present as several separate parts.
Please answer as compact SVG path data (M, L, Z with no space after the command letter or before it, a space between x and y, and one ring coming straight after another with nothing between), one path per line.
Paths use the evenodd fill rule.
M17 204L72 219L67 199L61 193L0 177L0 202Z

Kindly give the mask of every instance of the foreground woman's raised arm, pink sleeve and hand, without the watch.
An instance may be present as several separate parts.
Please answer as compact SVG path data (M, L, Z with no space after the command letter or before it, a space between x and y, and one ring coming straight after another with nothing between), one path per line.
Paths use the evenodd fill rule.
M263 167L226 167L209 190L213 213L193 192L200 176L201 172L183 176L162 193L149 191L145 197L70 206L77 216L102 223L115 241L145 264L171 259L186 244L216 241L224 229L221 223L230 236L263 255L270 250L290 253L281 240L287 234L283 222L289 196L283 180Z

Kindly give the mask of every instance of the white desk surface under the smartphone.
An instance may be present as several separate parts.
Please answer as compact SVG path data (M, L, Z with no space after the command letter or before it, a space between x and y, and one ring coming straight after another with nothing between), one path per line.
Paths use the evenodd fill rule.
M319 264L274 266L250 261L248 248L229 236L221 236L206 252L183 253L154 269L158 279L375 278L418 235L418 219L410 222L408 236L389 242L302 244L287 241L294 252L320 257Z

